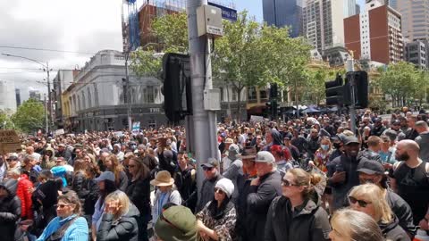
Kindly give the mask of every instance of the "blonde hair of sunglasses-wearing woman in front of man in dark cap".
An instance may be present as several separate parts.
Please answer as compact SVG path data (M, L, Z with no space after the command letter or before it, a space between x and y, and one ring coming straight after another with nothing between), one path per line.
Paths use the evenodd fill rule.
M392 220L391 207L387 204L382 188L372 183L353 187L350 191L351 196L355 198L364 198L374 206L374 220L390 223Z

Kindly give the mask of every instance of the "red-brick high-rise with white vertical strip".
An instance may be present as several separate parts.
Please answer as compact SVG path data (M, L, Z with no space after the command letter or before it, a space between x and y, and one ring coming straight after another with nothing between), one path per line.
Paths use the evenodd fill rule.
M344 19L345 46L355 59L399 62L403 57L400 13L379 1L368 1L366 11Z

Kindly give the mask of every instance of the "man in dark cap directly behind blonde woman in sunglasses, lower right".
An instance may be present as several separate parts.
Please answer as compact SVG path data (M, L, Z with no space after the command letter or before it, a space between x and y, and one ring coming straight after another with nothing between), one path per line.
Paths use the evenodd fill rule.
M416 232L416 226L413 223L413 212L407 202L389 188L383 164L374 160L359 162L357 172L359 173L360 184L374 183L383 190L391 211L399 219L400 227L412 237Z

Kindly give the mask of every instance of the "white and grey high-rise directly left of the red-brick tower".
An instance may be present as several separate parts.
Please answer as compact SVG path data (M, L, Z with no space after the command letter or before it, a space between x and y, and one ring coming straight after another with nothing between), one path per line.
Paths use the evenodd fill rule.
M319 53L344 46L344 12L343 0L307 0L303 5L302 29Z

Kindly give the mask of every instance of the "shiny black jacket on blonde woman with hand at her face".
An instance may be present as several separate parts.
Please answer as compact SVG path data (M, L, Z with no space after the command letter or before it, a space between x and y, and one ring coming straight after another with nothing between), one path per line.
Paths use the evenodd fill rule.
M139 227L137 218L139 210L130 204L130 211L119 220L114 220L114 215L103 214L100 227L97 231L99 241L138 241Z

